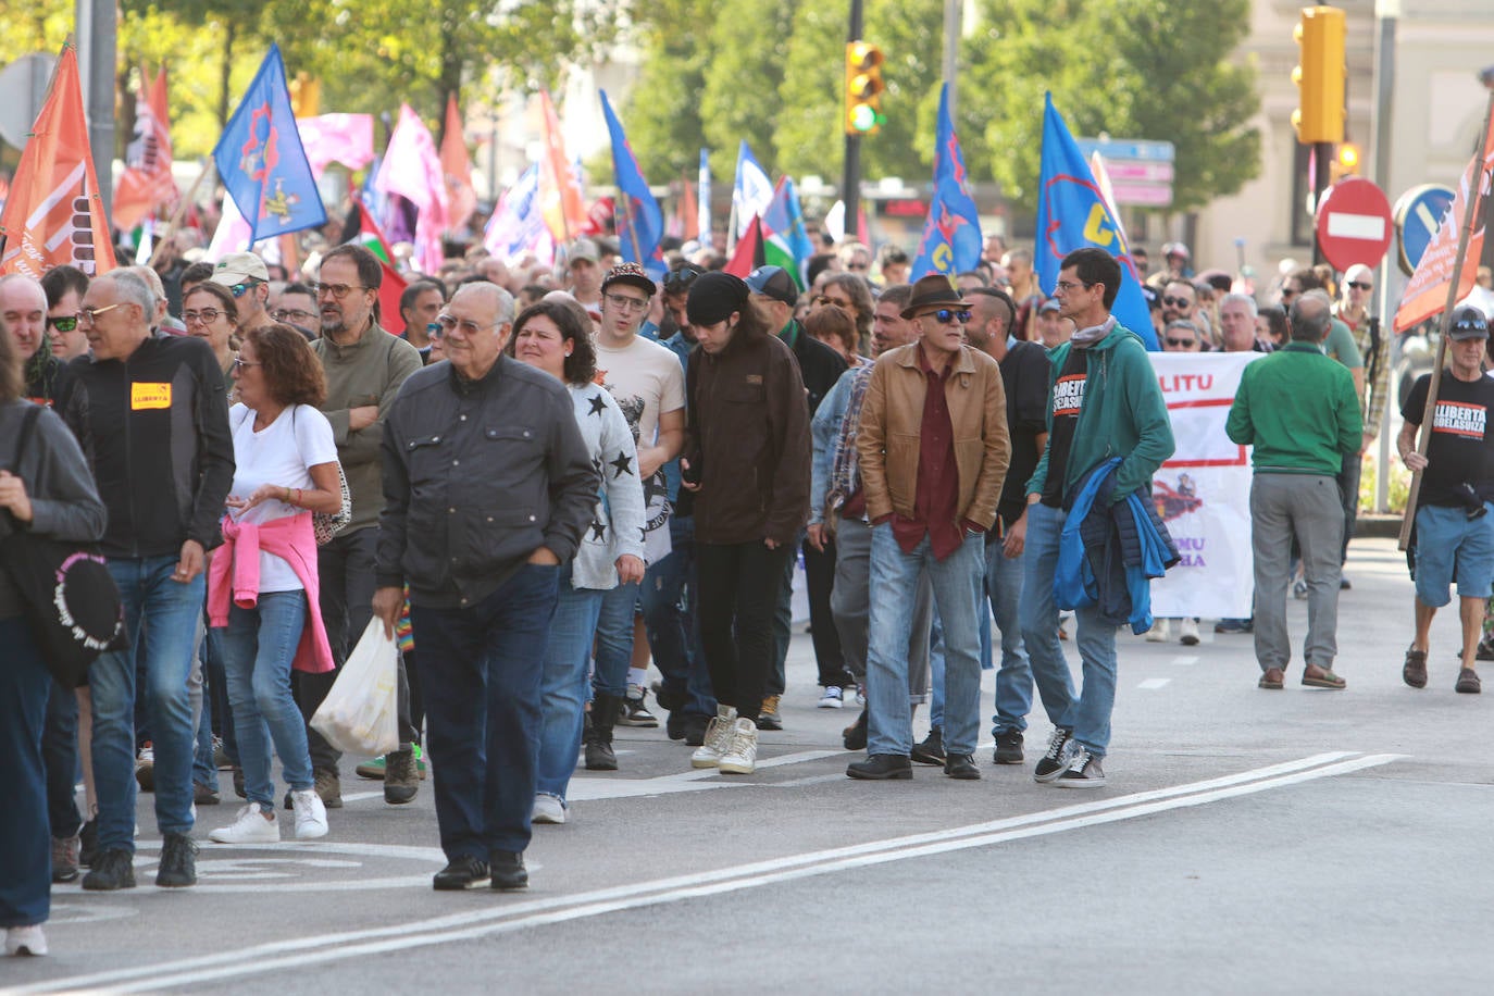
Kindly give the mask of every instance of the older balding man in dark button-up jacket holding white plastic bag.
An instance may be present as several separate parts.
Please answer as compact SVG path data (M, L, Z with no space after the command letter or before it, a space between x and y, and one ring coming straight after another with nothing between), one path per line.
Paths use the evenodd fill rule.
M523 888L539 669L565 561L599 485L560 381L503 355L514 299L465 284L436 317L448 363L384 420L374 612L393 635L409 587L426 688L438 890Z

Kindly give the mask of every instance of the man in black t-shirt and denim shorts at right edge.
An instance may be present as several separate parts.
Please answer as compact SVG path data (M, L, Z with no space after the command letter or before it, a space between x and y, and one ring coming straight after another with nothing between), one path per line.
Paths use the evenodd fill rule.
M1412 688L1427 684L1427 636L1437 609L1452 600L1458 582L1458 615L1463 621L1463 667L1454 685L1476 694L1479 675L1473 669L1484 606L1494 578L1494 436L1488 415L1494 411L1494 379L1484 376L1488 323L1476 308L1464 308L1448 332L1452 364L1437 382L1437 403L1425 454L1416 449L1416 430L1427 409L1431 375L1422 375L1410 390L1401 418L1397 448L1401 461L1421 472L1416 502L1415 557L1416 638L1406 651L1401 678Z

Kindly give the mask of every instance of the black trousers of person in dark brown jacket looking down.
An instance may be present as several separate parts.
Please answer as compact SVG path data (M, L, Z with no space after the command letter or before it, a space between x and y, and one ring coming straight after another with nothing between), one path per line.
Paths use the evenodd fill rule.
M756 720L774 662L774 609L793 548L696 544L699 621L716 700Z

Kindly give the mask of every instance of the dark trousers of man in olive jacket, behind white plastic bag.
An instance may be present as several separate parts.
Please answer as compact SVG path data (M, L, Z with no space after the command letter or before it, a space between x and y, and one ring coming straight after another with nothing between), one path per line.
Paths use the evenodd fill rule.
M311 729L311 717L332 690L332 682L342 672L342 662L357 645L359 638L374 617L374 553L378 547L378 527L369 526L354 533L333 536L317 550L317 575L321 582L321 624L327 629L332 644L332 663L324 673L297 670L294 675L296 705L306 717L306 745L311 748L314 769L338 769L342 753ZM400 685L403 685L403 675Z

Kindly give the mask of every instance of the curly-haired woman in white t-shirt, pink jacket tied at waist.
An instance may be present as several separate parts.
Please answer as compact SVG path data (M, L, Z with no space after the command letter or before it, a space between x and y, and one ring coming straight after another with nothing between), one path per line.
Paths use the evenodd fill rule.
M279 756L296 812L296 838L327 833L314 788L306 726L291 697L291 666L330 670L318 611L311 514L342 508L338 448L317 405L327 384L306 339L288 326L255 329L233 364L239 403L229 412L235 473L224 545L214 551L208 614L223 636L229 703L248 805L220 844L279 839L270 750ZM232 599L232 605L230 605Z

